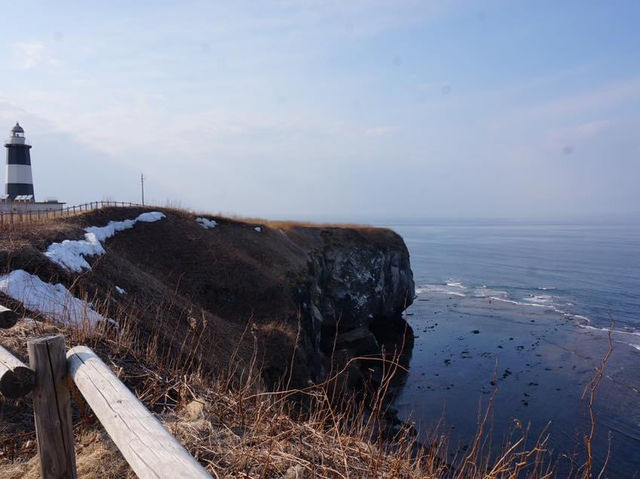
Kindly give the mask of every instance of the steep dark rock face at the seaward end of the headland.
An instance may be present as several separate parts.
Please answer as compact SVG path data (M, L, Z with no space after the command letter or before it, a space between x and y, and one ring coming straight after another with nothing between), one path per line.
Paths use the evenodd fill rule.
M409 252L400 236L385 231L384 241L359 238L339 244L323 234L323 247L309 253L309 280L299 288L303 324L316 357L380 357L413 343L402 312L415 287ZM370 366L370 365L368 365ZM321 371L321 373L324 371Z

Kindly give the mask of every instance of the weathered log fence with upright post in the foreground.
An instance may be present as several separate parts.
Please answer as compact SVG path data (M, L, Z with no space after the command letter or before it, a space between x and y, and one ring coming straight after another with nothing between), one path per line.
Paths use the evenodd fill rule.
M0 327L13 326L13 319L0 322ZM0 392L10 398L33 394L43 479L77 477L71 381L138 477L211 479L91 349L76 346L66 351L62 335L32 339L27 344L29 366L0 346Z

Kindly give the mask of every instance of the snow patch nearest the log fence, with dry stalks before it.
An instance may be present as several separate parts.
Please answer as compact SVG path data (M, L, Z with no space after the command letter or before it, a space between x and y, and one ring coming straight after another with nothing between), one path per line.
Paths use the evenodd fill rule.
M62 284L45 283L21 269L0 276L0 291L20 301L26 309L66 325L92 328L104 321L117 324L93 310L86 301L74 297Z

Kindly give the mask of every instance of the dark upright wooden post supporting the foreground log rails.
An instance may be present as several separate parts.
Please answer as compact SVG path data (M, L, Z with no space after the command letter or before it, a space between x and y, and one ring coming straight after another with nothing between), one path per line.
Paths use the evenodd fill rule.
M33 415L42 479L75 479L76 456L64 336L32 339L28 346L29 364L36 374Z

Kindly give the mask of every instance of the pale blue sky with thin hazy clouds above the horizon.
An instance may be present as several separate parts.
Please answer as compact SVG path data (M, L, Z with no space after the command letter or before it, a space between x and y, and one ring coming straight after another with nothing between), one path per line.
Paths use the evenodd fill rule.
M38 199L139 201L142 172L149 203L250 217L640 215L635 0L2 12Z

